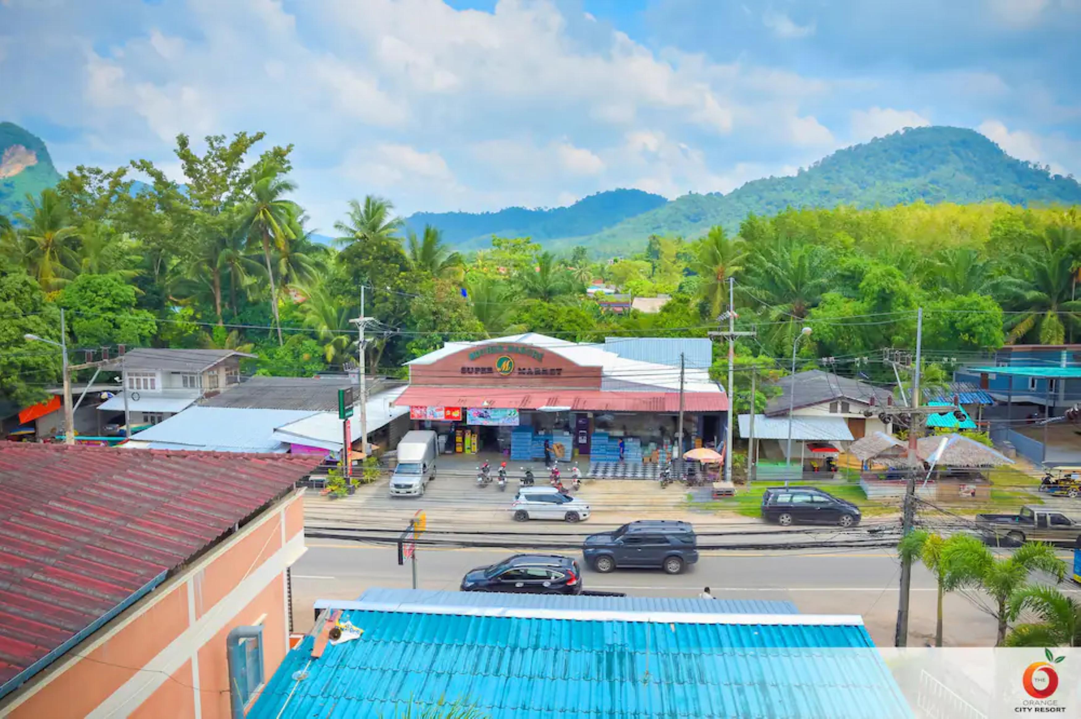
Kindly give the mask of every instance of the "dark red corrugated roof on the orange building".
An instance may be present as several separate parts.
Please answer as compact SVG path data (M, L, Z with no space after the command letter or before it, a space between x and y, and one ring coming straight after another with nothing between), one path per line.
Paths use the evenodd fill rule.
M0 443L0 684L200 554L318 462Z

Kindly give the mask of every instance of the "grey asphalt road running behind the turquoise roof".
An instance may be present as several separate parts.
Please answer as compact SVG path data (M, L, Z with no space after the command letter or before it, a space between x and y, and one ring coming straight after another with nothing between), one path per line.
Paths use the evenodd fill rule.
M421 547L419 586L456 591L467 570L510 554L499 548ZM399 567L397 559L393 546L309 539L307 554L293 567L294 629L310 628L317 599L356 599L369 587L411 586L410 566ZM830 548L712 551L676 576L651 570L599 574L586 569L583 579L587 589L633 596L694 597L708 585L716 597L785 599L803 613L860 614L878 645L893 646L898 576L893 553ZM1064 588L1079 592L1076 585ZM922 566L915 567L910 611L909 646L922 646L934 636L935 626L935 583ZM995 620L960 594L946 596L944 626L947 646L995 642Z

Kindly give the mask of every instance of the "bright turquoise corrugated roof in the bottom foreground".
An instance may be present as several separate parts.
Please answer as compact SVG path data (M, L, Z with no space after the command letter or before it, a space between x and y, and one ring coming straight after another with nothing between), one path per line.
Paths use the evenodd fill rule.
M248 719L391 719L440 700L491 719L912 716L857 622L475 611L346 610L363 636L318 660L306 637Z

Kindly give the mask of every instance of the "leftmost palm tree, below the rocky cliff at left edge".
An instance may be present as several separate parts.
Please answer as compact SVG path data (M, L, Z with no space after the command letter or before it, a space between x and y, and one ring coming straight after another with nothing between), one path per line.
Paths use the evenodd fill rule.
M29 216L16 213L23 229L15 231L12 254L37 277L41 288L55 291L71 281L79 259L75 252L78 230L69 223L68 208L55 190L42 190L40 200L26 195ZM11 233L9 233L11 235Z

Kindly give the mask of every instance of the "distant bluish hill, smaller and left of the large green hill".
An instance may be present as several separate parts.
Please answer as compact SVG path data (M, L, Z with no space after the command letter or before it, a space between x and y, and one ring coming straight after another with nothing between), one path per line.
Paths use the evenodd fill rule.
M659 194L641 190L610 190L591 194L568 207L551 209L507 207L495 213L416 213L405 218L405 227L417 233L425 225L437 227L443 233L443 241L455 249L486 247L493 234L529 236L547 244L600 232L667 202Z

